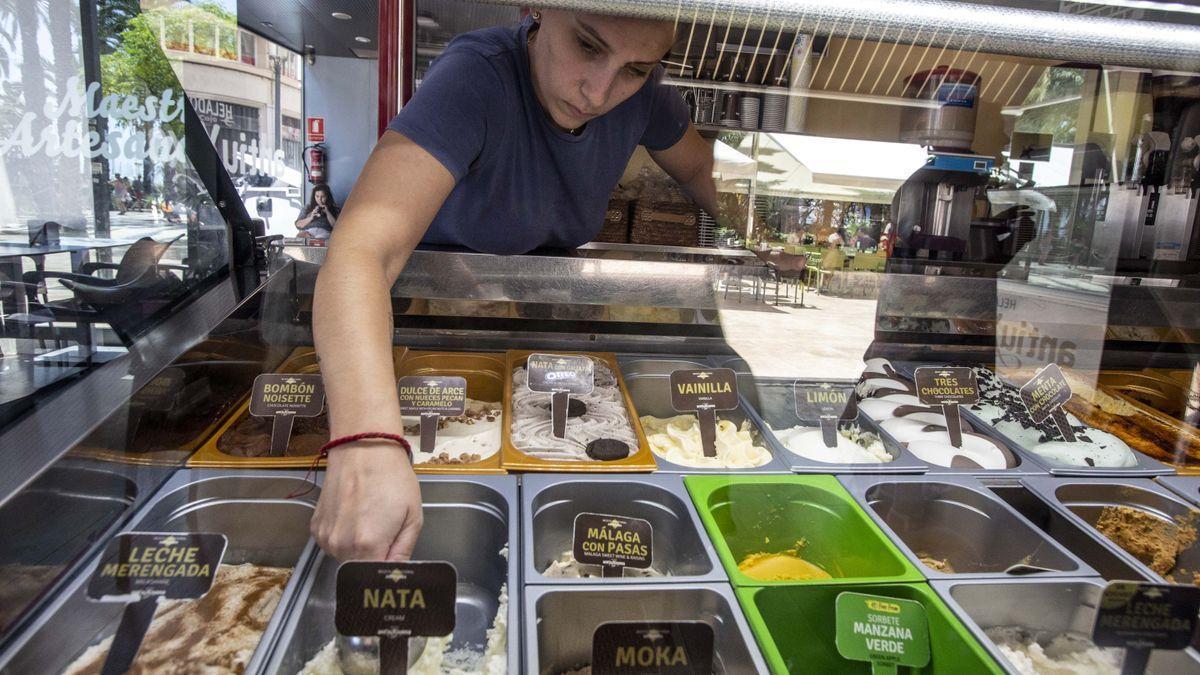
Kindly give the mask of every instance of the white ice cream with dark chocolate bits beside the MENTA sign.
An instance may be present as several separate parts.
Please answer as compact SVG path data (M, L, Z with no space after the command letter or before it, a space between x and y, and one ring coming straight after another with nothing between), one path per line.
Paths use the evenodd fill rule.
M1033 422L1016 387L1003 382L985 368L977 368L974 371L979 381L979 402L968 406L968 410L1026 450L1060 466L1138 465L1136 456L1124 441L1108 431L1085 425L1068 412L1063 414L1075 440L1066 441L1052 418Z

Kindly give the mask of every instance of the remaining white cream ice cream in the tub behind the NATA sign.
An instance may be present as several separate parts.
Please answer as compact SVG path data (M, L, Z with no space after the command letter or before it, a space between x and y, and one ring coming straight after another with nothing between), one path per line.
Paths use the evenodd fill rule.
M426 638L421 656L408 668L412 675L504 675L508 673L509 640L509 592L508 586L500 586L499 607L491 628L487 629L487 644L482 651L469 647L451 650L454 633L449 635ZM358 673L379 673L378 656L355 662ZM300 670L300 675L343 675L337 652L337 639L325 644Z

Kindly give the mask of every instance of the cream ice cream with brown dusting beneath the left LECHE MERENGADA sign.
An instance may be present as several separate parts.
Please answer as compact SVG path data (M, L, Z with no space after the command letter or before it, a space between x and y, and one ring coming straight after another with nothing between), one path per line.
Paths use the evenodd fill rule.
M163 601L128 673L242 673L283 596L290 569L222 565L194 601ZM64 671L100 673L113 639L89 647Z

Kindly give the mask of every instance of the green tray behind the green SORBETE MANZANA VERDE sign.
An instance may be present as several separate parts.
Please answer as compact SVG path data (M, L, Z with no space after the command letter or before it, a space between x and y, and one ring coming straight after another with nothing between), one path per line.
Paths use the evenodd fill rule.
M846 661L834 645L834 602L844 591L904 598L925 605L929 665L900 668L901 674L1004 673L925 584L737 589L738 602L772 673L871 671L870 663Z

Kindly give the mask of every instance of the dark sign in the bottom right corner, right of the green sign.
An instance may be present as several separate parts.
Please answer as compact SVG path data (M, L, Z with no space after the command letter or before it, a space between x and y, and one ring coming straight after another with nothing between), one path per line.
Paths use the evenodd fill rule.
M1122 673L1142 673L1151 650L1192 644L1200 613L1200 587L1112 581L1100 595L1092 641L1126 649Z

